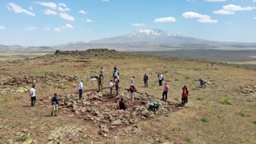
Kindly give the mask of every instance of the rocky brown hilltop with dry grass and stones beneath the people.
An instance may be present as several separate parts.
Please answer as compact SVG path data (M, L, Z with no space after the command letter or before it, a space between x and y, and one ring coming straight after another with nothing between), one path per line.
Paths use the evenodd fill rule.
M213 64L213 65L212 65ZM2 61L0 143L254 143L256 139L256 71L194 58L129 54L93 49L60 51L35 58ZM113 67L120 73L120 94L108 96ZM104 90L90 76L105 70ZM162 98L157 74L170 86ZM142 78L149 75L149 87ZM78 80L72 80L74 75ZM119 98L128 100L127 88L135 76L136 102L128 112L117 109ZM206 88L198 87L204 78ZM78 100L78 82L84 80L84 99ZM30 107L27 90L36 84L38 102ZM182 86L190 90L181 103ZM50 98L60 99L58 116L50 115ZM128 102L128 101L127 101ZM147 110L160 103L158 111ZM132 113L131 113L132 112Z

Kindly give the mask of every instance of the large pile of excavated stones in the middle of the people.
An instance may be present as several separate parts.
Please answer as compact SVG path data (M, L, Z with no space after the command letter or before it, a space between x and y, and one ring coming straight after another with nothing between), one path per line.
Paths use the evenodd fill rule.
M108 92L108 91L106 91ZM171 102L160 101L150 94L135 94L135 101L138 106L129 102L130 93L127 90L120 90L120 96L110 98L108 94L93 91L83 94L82 100L78 95L66 95L60 98L60 109L71 109L74 115L84 120L92 121L96 126L103 123L110 125L110 129L115 126L127 126L137 123L142 119L154 118L159 114L168 114L175 109ZM124 98L128 109L119 110L119 98ZM149 110L150 102L160 104L158 110Z

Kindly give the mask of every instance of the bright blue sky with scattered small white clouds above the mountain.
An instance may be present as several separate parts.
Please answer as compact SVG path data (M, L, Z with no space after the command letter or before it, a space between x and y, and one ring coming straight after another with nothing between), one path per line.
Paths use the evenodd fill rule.
M90 42L138 29L256 42L256 0L0 1L0 45Z

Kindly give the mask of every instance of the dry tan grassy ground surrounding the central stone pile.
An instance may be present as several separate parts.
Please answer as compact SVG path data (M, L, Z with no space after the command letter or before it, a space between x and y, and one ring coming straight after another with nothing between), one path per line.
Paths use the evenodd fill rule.
M61 60L62 59L62 60ZM63 60L65 59L65 60ZM61 61L60 61L61 60ZM88 62L78 62L86 60ZM76 61L76 62L75 62ZM42 64L45 62L45 65ZM53 63L51 63L53 62ZM136 54L113 54L103 57L82 59L80 57L56 57L48 60L34 59L24 64L1 63L6 73L12 75L42 75L49 72L77 75L84 80L86 90L97 88L97 83L90 81L91 75L97 75L100 67L105 70L104 87L108 86L113 67L118 66L120 86L128 88L130 78L135 76L135 86L142 93L154 94L162 98L162 86L158 86L158 71L162 71L170 86L168 100L180 103L182 86L190 89L186 108L138 123L142 128L139 134L125 134L125 127L120 127L109 134L108 138L98 135L98 128L79 119L70 118L59 110L58 117L50 116L50 105L30 107L30 97L23 94L2 94L0 97L0 143L8 139L15 141L15 134L26 129L26 134L39 143L47 143L50 130L63 124L86 126L77 143L94 142L84 134L98 138L101 143L256 143L256 71L218 66L208 69L202 61L142 56ZM149 87L144 87L142 78L149 75ZM5 78L9 76L4 75ZM198 78L208 82L206 88L198 88ZM79 80L78 80L79 82ZM38 98L48 98L58 94L74 94L78 82L65 82L66 89L54 86L36 87ZM59 83L62 84L62 83ZM58 83L56 83L58 85ZM248 89L241 89L240 86ZM221 102L225 101L224 104ZM226 104L225 104L226 103ZM229 105L230 103L231 105ZM115 135L112 135L115 134ZM64 142L64 143L73 143Z

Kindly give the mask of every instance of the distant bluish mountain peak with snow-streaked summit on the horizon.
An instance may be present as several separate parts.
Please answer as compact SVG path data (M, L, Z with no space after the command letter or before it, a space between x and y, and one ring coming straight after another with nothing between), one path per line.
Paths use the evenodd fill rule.
M176 42L202 42L204 40L173 34L163 30L134 30L129 34L112 38L102 38L90 43L124 43L124 42L151 42L151 43L176 43Z

